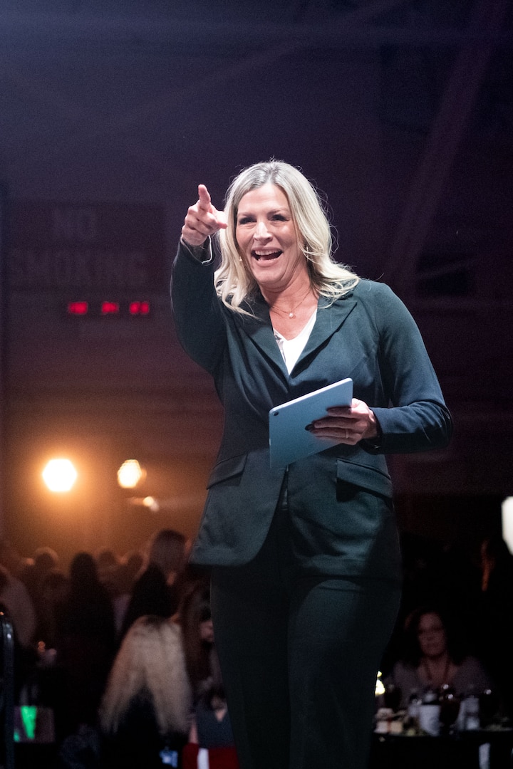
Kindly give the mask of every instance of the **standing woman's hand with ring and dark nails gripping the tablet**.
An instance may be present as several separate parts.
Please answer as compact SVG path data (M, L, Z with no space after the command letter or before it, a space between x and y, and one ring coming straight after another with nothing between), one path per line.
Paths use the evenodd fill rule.
M340 443L355 446L364 438L376 438L378 422L374 411L364 401L353 398L350 406L328 408L328 417L315 419L308 430L318 438L336 438Z

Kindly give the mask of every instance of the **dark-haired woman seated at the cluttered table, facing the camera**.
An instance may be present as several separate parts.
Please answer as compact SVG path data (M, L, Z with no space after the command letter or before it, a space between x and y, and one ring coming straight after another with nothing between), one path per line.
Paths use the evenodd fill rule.
M412 691L448 686L458 696L492 688L485 668L475 657L456 648L440 611L428 606L412 611L405 623L404 653L385 678L401 690L400 707L406 707Z

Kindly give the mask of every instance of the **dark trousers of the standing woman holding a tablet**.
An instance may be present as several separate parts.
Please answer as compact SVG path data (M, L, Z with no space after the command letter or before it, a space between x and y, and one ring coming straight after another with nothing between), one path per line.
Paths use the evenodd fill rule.
M215 644L242 769L365 769L397 584L305 573L286 495L258 556L212 570Z

